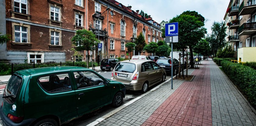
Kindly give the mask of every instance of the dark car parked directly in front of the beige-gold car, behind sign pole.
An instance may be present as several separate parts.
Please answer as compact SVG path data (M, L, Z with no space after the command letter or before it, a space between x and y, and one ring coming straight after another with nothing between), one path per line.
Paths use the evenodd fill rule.
M173 66L173 75L176 75L176 70L179 67L179 61L175 58L173 58L173 65L171 64L172 59L166 58L166 59L158 59L156 63L160 65L160 67L164 68L166 73L171 73L172 66Z

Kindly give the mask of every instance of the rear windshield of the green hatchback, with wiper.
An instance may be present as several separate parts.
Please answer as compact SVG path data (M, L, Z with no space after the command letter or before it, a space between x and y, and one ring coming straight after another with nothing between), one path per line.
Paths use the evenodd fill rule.
M16 99L16 95L20 89L22 78L16 74L12 75L8 81L3 97L6 97L6 100L9 103L13 103Z

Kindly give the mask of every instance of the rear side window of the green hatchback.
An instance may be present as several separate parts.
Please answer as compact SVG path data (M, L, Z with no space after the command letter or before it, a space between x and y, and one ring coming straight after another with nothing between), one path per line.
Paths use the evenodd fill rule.
M68 73L42 76L38 80L41 87L50 93L72 90Z

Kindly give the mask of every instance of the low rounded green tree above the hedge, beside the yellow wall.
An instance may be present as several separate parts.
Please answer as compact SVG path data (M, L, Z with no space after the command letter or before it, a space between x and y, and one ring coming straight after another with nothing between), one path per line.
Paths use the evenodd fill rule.
M219 49L216 56L218 58L232 58L235 54L235 51L233 50L232 46L226 46L224 49Z

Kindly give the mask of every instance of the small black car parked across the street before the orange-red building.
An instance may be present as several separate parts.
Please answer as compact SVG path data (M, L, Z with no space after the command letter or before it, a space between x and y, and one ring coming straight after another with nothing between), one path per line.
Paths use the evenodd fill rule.
M104 71L105 69L108 69L110 71L113 71L118 62L120 62L120 60L116 58L103 59L101 61L101 70Z

